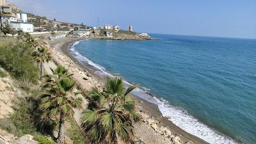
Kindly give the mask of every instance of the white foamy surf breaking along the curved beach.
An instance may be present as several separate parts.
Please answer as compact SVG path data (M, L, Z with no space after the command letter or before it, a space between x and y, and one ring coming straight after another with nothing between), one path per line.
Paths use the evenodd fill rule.
M86 62L88 65L97 68L98 70L95 71L96 74L100 76L110 76L114 77L113 74L106 71L106 68L98 65L97 63L93 63L92 60L82 56L79 52L76 51L76 45L78 45L81 41L75 42L71 47L70 51L75 54L77 60L81 62ZM124 81L125 88L131 86L132 83L128 81ZM157 98L152 93L150 93L150 89L148 88L136 88L132 91L132 95L136 95L141 99L147 100L152 104L156 104L161 111L162 115L167 117L168 120L172 121L173 124L177 125L184 131L188 132L189 134L193 134L198 138L201 138L208 143L214 144L236 144L235 140L229 138L225 134L221 134L220 132L212 129L208 125L200 122L194 116L189 115L184 109L177 108L172 106L167 100L163 98Z

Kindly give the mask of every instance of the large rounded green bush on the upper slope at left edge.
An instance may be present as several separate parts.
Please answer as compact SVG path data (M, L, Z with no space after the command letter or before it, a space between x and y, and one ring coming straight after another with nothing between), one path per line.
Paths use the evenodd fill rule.
M36 84L39 70L32 52L31 45L26 42L6 41L0 45L0 66L15 79Z

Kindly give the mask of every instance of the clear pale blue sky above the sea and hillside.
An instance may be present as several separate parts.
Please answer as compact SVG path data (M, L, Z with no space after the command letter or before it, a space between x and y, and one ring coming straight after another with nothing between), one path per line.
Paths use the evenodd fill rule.
M173 35L256 38L256 0L6 0L23 12Z

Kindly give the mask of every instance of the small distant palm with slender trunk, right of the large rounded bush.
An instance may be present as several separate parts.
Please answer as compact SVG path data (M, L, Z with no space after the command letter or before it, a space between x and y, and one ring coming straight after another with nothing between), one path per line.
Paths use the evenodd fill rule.
M40 80L43 77L43 64L51 60L51 54L48 52L48 49L45 47L39 47L36 51L33 52L32 56L35 58L38 63L38 67L40 65Z

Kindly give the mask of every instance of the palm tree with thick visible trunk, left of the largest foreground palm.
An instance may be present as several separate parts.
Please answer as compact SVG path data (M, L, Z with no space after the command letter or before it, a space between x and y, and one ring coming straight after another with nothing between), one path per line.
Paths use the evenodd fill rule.
M64 143L64 122L66 116L72 116L74 111L72 108L81 108L82 99L68 96L75 86L75 81L68 77L61 77L51 88L47 88L42 95L42 102L39 106L44 111L43 118L51 118L59 120L59 131L57 143Z

